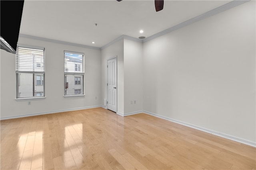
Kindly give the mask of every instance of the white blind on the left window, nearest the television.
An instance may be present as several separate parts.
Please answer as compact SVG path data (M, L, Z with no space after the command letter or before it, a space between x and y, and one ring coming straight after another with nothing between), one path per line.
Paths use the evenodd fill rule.
M44 72L44 62L44 48L17 47L16 71Z

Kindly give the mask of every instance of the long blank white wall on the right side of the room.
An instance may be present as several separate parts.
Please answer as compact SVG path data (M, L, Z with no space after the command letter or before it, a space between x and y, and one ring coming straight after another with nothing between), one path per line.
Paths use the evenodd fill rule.
M143 44L143 109L256 141L255 1Z

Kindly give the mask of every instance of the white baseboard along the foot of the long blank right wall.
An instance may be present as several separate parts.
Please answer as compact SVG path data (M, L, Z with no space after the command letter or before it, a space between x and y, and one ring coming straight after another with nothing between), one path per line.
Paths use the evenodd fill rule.
M182 122L182 121L178 121L176 119L171 119L169 117L165 117L165 116L162 116L162 115L158 115L156 113L151 113L149 111L143 111L143 113L146 113L146 114L149 114L149 115L152 115L152 116L155 116L155 117L159 117L161 119L165 119L165 120L168 120L168 121L172 121L174 123L178 123L180 125L184 125L184 126L188 126L188 127L192 127L194 129L197 129L197 130L200 130L200 131L204 131L204 132L207 132L207 133L210 133L212 135L216 135L216 136L219 136L219 137L223 137L223 138L226 138L226 139L230 139L232 141L236 141L236 142L239 142L239 143L243 143L243 144L246 144L246 145L250 145L252 147L256 147L256 142L254 141L249 141L247 139L242 139L240 137L235 137L235 136L232 136L232 135L228 135L228 134L225 134L225 133L221 133L221 132L217 132L217 131L213 131L213 130L210 130L210 129L206 129L204 127L199 127L199 126L196 126L196 125L192 125L190 123L186 123L186 122Z

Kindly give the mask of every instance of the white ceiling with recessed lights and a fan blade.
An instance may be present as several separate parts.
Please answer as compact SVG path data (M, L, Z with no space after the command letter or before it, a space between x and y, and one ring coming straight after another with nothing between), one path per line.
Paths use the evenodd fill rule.
M122 35L149 37L228 2L165 0L156 12L154 0L25 0L20 34L103 47Z

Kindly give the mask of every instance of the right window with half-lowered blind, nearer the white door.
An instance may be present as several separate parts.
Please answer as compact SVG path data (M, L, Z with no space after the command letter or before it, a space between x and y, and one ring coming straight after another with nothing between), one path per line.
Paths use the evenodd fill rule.
M84 53L64 51L64 96L84 94Z

